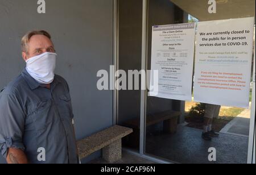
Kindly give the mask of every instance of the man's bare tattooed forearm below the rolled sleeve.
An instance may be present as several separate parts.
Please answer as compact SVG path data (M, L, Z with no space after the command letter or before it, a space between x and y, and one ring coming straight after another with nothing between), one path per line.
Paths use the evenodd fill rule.
M27 156L21 149L9 148L6 161L8 164L28 164Z

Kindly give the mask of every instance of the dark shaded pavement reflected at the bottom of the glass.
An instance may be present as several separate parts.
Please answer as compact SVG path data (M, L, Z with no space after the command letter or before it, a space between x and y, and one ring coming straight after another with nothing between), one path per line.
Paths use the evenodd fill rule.
M176 134L162 132L146 136L146 153L183 164L246 164L248 138L220 134L205 141L202 130L178 126ZM216 148L217 161L208 160L209 148Z

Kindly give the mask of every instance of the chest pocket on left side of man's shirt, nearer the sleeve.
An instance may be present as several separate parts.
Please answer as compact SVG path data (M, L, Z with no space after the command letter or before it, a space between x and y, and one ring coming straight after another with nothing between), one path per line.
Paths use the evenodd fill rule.
M28 118L32 120L37 131L42 131L52 123L54 110L52 109L52 100L41 101L37 105L31 105Z

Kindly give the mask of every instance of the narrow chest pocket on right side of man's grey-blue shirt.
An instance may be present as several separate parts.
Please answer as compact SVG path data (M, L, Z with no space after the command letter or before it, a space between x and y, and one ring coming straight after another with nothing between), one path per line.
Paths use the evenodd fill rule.
M73 119L71 95L69 93L59 95L59 107L60 117L71 121Z

